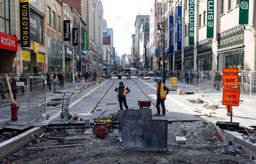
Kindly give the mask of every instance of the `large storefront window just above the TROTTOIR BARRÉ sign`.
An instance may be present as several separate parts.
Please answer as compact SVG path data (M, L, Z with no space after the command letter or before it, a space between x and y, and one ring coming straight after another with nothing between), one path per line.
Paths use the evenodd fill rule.
M243 50L235 50L218 54L218 70L222 68L244 65Z

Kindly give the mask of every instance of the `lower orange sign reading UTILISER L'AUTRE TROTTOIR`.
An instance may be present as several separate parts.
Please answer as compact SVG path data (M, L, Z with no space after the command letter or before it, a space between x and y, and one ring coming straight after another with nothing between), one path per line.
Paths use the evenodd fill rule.
M223 88L223 105L239 106L240 89L237 88Z

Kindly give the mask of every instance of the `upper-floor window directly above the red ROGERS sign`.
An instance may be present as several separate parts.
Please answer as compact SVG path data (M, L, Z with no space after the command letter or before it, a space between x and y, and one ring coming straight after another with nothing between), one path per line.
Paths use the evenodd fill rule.
M0 32L10 35L9 0L0 0Z

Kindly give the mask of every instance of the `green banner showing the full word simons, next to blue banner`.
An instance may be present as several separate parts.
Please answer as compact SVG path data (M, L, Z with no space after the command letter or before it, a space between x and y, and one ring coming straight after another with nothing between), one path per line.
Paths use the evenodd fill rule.
M189 0L188 45L194 45L195 1Z

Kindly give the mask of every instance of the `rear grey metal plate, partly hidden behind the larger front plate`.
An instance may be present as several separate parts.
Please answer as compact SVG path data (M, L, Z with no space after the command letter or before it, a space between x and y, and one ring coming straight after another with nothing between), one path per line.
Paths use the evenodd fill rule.
M124 116L125 115L125 116ZM152 119L151 109L132 109L132 110L118 110L119 128L122 130L122 123L124 118L147 118Z

